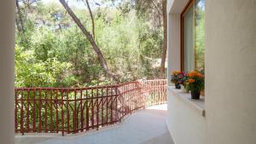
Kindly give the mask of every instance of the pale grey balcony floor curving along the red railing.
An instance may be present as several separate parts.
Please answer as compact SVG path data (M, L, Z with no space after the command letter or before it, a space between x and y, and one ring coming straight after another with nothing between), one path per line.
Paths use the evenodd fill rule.
M166 128L166 105L133 113L121 124L79 135L16 137L15 144L174 144Z

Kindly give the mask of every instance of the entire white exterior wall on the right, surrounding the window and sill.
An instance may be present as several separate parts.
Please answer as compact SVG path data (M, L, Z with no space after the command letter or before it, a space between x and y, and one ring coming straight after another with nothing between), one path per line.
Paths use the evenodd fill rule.
M168 0L168 85L180 67L180 13ZM168 90L176 144L256 143L256 1L206 0L206 118ZM196 134L196 135L195 135ZM197 136L197 137L196 137Z

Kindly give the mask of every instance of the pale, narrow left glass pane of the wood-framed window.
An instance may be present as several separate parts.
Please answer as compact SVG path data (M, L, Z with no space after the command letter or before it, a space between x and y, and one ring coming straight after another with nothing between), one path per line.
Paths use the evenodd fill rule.
M183 15L183 70L195 70L194 6Z

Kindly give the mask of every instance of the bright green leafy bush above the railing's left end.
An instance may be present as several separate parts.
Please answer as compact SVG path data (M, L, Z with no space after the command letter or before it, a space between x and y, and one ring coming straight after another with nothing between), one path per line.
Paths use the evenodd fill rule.
M75 79L67 73L72 65L49 58L44 62L37 60L32 50L15 49L15 86L16 87L58 87L72 86ZM61 83L61 81L66 83ZM60 85L63 84L63 85Z

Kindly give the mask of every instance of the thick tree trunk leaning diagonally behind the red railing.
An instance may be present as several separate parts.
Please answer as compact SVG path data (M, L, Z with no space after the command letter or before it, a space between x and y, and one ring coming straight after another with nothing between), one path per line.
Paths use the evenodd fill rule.
M59 1L63 5L63 7L67 10L67 13L72 17L72 19L77 24L77 26L79 26L80 30L84 33L85 37L87 37L87 39L89 40L89 42L92 46L92 49L94 49L94 51L96 52L97 58L100 61L102 68L106 72L107 77L113 79L115 82L118 82L118 79L115 78L113 73L110 72L110 70L108 69L108 64L107 64L104 56L102 55L102 51L97 46L97 44L96 44L94 38L91 36L90 32L88 32L87 29L83 26L81 20L79 20L79 18L73 13L73 10L69 8L69 6L65 2L65 0L59 0Z

